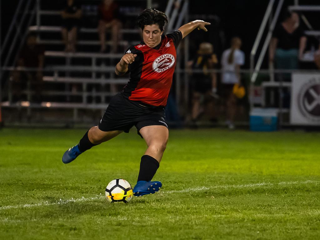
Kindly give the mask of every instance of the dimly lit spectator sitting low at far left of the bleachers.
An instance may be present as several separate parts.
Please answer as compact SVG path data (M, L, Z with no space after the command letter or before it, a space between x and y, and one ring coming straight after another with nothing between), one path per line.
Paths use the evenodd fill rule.
M17 67L38 68L38 70L12 72L12 93L15 97L14 100L22 100L22 89L30 87L36 92L35 100L40 102L42 100L41 92L43 89L42 68L44 67L44 47L37 45L36 36L29 35L27 37L27 42L19 53Z

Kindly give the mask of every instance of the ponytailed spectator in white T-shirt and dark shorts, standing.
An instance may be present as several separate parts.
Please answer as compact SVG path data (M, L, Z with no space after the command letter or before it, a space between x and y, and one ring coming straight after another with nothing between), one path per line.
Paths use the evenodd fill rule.
M241 39L231 39L231 48L222 53L222 89L226 103L226 124L229 129L234 129L234 118L237 110L237 97L233 92L234 85L242 85L240 78L240 66L244 65L244 52L240 50Z

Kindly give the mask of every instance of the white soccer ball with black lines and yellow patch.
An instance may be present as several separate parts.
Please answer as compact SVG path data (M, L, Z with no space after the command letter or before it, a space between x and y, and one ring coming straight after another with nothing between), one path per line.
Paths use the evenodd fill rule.
M124 179L114 179L109 182L106 188L106 197L109 203L128 203L132 196L132 187L130 183Z

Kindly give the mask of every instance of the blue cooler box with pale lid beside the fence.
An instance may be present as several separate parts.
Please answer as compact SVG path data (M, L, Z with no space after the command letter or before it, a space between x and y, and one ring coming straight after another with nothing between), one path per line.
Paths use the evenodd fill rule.
M277 130L278 110L275 108L252 108L250 130L271 132Z

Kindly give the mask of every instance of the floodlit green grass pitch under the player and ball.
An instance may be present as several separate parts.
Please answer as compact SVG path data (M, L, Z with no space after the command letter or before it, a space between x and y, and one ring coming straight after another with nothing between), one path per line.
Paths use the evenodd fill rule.
M134 185L146 146L121 134L63 164L86 130L0 130L1 239L320 239L320 133L172 130L159 193Z

